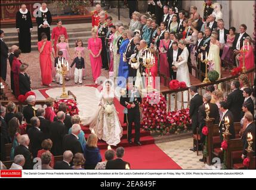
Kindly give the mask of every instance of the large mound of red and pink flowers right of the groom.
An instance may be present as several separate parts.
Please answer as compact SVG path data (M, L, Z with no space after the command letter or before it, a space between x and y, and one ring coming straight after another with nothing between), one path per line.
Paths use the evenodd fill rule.
M165 97L158 92L147 95L141 107L143 107L141 126L147 131L160 132L161 135L178 134L185 131L187 124L190 124L189 109L167 112Z

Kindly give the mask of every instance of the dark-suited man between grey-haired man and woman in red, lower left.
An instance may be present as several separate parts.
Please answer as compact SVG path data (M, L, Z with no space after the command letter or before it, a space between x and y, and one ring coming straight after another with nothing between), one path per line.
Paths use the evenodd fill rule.
M32 151L32 155L35 158L38 155L38 150L42 149L41 147L42 141L47 139L47 136L39 129L40 121L38 117L31 118L30 123L32 127L27 131L27 134L29 135L29 139L31 142L30 148Z

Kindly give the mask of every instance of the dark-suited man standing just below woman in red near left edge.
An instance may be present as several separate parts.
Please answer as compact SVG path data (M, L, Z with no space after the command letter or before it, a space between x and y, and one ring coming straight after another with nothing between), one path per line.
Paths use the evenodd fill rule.
M26 65L20 65L20 74L18 75L20 94L23 95L25 95L28 91L31 91L31 81L29 75L26 73L26 69Z

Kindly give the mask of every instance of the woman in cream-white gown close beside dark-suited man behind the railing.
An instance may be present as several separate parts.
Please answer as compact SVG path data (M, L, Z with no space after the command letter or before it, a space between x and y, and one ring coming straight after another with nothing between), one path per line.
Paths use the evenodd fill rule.
M178 47L183 49L181 55L178 57L178 62L176 62L175 69L177 69L177 80L180 82L185 82L187 86L190 86L190 77L189 77L189 66L187 66L187 59L189 58L189 50L187 50L186 42L180 40L178 42ZM178 93L178 100L181 101L181 93ZM183 100L187 101L187 91L183 93Z

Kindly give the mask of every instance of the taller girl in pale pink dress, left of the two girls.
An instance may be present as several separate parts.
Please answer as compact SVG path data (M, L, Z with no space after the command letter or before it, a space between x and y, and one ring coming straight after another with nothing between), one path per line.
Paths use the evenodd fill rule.
M64 35L60 35L58 37L58 43L56 45L57 49L56 49L56 55L58 55L58 51L63 52L63 58L66 59L66 61L69 63L69 65L71 64L71 59L70 59L70 52L69 52L69 44L67 42L65 42L66 38ZM69 80L69 78L73 77L75 68L73 69L69 69L68 74L66 75L66 80Z

